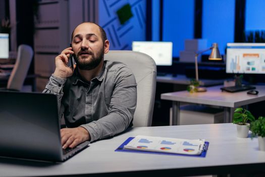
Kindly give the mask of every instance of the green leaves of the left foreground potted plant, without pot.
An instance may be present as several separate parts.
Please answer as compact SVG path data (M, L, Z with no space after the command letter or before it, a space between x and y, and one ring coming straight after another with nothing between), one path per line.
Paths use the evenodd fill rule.
M252 122L255 117L244 108L236 108L233 116L233 123L239 125L246 125L247 121Z

